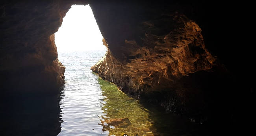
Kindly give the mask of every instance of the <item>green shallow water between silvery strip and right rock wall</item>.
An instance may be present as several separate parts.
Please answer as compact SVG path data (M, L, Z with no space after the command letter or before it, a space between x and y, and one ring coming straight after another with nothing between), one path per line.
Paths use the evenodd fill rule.
M105 96L102 106L104 120L115 120L128 118L124 123L116 123L114 126L100 124L104 126L103 131L109 131L109 135L134 136L171 136L171 135L191 135L196 130L186 118L181 118L170 113L165 113L157 105L142 103L128 94L119 91L117 86L100 77L97 79ZM107 121L106 121L107 122ZM128 122L128 123L127 123Z

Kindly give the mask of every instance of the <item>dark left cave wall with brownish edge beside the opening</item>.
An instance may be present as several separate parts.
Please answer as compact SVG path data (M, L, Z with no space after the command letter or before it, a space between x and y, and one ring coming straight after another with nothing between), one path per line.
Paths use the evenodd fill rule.
M54 33L70 5L6 2L1 5L1 88L5 93L57 93L65 67Z

